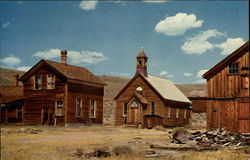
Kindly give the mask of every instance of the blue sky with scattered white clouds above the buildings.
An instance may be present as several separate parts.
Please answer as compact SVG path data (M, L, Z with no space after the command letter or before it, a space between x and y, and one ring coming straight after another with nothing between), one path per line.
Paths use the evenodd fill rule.
M0 66L41 59L131 78L143 47L148 73L174 83L202 74L249 41L248 1L1 1Z

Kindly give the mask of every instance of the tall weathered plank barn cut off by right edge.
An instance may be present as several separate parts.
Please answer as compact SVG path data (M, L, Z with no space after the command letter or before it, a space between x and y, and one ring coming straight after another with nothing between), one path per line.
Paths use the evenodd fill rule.
M250 132L249 42L206 72L207 128Z

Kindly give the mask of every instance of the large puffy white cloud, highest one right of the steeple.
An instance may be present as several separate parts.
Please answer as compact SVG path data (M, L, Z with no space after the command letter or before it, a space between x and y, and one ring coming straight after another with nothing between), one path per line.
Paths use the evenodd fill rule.
M166 17L156 26L155 31L167 36L184 34L188 29L201 27L203 20L196 20L195 14L177 13L175 16Z

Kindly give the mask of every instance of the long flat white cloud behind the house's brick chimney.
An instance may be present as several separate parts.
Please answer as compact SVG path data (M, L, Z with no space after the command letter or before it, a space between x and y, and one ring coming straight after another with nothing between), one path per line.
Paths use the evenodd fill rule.
M33 56L41 57L44 59L52 59L61 56L61 50L50 49L47 51L40 51L33 54ZM95 51L68 51L67 56L71 59L71 63L74 64L96 64L108 60L103 53Z

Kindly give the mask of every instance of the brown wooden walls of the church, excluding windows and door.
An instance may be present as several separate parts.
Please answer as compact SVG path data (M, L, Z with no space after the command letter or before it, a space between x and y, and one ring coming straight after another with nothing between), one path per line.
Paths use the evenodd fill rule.
M151 114L151 102L155 102L155 114L156 116L163 117L163 126L183 126L188 124L190 118L190 110L187 110L187 105L182 103L172 103L170 101L165 102L161 99L157 93L145 82L140 76L138 76L120 95L116 100L116 111L115 111L115 124L121 125L125 122L126 117L123 116L123 105L127 102L131 96L135 93L137 87L142 87L142 96L147 100L148 105L146 108L140 111L139 117L144 118L144 115ZM128 105L128 114L130 109ZM142 106L141 106L142 107ZM171 117L168 118L168 108L171 107ZM176 108L179 108L179 117L176 118ZM186 111L186 118L184 119L184 110ZM129 115L128 115L129 116ZM144 120L141 120L144 123Z

